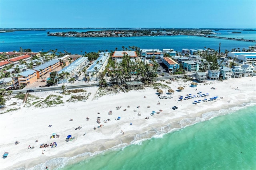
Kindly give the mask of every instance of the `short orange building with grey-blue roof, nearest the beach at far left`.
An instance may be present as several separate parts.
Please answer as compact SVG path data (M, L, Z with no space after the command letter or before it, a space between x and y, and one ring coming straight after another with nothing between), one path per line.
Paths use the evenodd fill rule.
M14 87L27 86L37 81L37 75L35 70L27 70L23 73L19 73L13 77Z

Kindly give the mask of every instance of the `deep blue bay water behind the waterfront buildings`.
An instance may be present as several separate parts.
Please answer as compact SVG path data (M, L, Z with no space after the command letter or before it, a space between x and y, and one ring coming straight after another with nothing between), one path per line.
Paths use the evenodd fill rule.
M220 49L222 52L233 48L248 49L248 46L254 45L253 42L244 42L236 40L224 40L216 38L205 38L196 36L143 36L143 37L56 37L47 36L47 32L86 32L88 30L76 29L47 29L46 31L18 31L0 33L0 51L19 51L22 49L31 49L34 52L49 51L50 49L62 52L68 51L72 54L84 54L84 52L97 52L99 50L115 51L122 50L122 47L129 46L140 47L140 49L174 49L180 52L183 48L187 49ZM90 30L94 31L94 30ZM214 30L213 30L214 31ZM230 30L216 31L216 36L229 38L241 38L256 40L256 31L240 31L239 34L231 34Z

